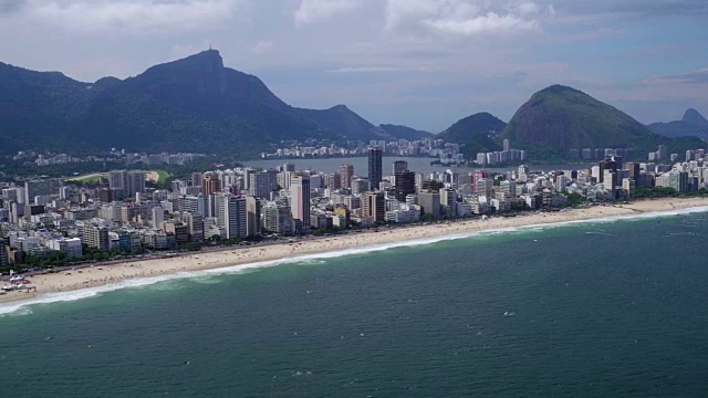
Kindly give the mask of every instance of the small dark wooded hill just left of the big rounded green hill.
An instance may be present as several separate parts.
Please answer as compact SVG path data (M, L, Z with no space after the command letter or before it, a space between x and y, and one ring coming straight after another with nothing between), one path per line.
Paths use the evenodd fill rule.
M501 150L501 145L494 138L504 127L506 123L482 112L458 121L435 138L460 144L462 155L473 158L477 153Z

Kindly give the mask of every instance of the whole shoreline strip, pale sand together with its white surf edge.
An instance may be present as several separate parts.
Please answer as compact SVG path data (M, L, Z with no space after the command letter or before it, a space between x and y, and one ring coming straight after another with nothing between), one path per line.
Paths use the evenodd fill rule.
M25 304L62 301L65 293L85 293L93 296L95 287L104 291L124 289L135 282L145 285L162 282L174 276L194 277L195 272L239 272L244 269L275 265L284 262L306 260L313 255L326 258L343 251L351 253L384 250L396 245L426 244L435 241L461 239L475 233L532 228L569 222L592 222L603 219L632 218L642 214L662 216L673 211L708 211L708 198L655 199L626 205L594 206L568 209L559 212L539 212L519 217L493 217L487 220L465 220L455 222L412 226L405 228L382 228L379 232L362 232L301 239L294 242L269 245L227 248L220 251L195 252L168 259L132 261L112 265L62 271L29 277L37 292L10 292L0 295L0 313L14 312ZM2 308L12 304L11 308ZM2 311L8 310L8 311Z

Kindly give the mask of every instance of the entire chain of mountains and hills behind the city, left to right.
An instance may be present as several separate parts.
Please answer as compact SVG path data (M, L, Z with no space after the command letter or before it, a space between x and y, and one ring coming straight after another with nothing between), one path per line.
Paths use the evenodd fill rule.
M683 123L708 124L695 109ZM637 154L705 146L691 137L652 133L620 109L568 86L534 93L509 123L489 113L467 116L430 135L406 126L374 125L346 105L294 107L259 77L223 65L217 50L148 67L125 80L83 83L61 72L0 63L0 153L35 149L88 154L111 147L254 156L282 142L324 143L445 139L477 151L499 150L509 138L537 159L569 148L632 147Z

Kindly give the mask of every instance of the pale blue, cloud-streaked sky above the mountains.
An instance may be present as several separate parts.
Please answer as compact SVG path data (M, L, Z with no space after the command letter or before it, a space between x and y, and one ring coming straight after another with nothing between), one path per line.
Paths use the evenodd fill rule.
M214 45L294 106L431 132L551 84L708 115L705 0L0 0L0 61L81 81Z

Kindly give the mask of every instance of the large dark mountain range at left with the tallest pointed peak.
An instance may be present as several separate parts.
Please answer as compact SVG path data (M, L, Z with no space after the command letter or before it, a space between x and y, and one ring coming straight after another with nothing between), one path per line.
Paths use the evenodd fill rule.
M21 149L253 155L282 140L379 139L344 106L292 107L258 77L223 66L218 51L121 81L82 83L0 63L0 153Z

